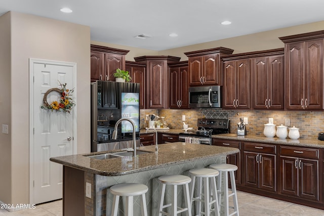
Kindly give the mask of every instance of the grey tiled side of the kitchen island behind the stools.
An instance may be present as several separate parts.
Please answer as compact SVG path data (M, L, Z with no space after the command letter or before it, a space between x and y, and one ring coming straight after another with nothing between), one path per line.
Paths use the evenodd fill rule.
M157 207L160 199L160 185L156 178L162 175L185 175L189 176L192 168L203 168L214 163L226 163L226 156L217 156L208 159L195 160L177 165L170 165L163 168L151 169L124 176L100 176L96 175L96 215L111 215L113 195L109 193L109 188L120 183L140 183L148 186L145 194L148 215L158 215ZM178 193L183 194L182 187L178 187ZM166 201L171 202L171 188L166 189ZM118 215L123 215L123 203L119 202ZM178 196L178 205L184 206L182 196ZM104 214L105 212L105 214ZM134 215L140 215L140 199L134 198Z

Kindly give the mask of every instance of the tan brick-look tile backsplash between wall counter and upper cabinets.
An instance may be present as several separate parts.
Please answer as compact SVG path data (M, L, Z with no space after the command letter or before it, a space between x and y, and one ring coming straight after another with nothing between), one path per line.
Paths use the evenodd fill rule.
M269 110L222 110L222 109L142 109L141 128L145 126L145 115L156 114L164 116L170 128L182 128L182 115L186 116L186 123L189 127L197 127L197 118L223 118L227 117L231 121L231 133L236 133L236 124L239 118L248 117L248 135L264 136L264 124L268 123L268 118L273 118L273 123L277 126L284 124L284 119L290 119L290 126L299 128L300 138L317 139L319 132L324 132L324 113L312 111L269 111Z

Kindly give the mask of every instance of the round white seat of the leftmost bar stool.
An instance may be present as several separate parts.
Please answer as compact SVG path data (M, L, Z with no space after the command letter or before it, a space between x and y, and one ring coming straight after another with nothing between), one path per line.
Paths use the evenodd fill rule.
M124 183L110 187L110 192L118 196L138 196L145 194L148 191L148 187L138 183Z

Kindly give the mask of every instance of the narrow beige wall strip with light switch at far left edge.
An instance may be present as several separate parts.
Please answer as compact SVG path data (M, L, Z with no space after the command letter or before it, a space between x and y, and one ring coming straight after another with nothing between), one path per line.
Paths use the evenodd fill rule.
M0 17L0 128L11 122L11 37L10 14ZM0 131L0 200L11 201L11 127L9 134Z

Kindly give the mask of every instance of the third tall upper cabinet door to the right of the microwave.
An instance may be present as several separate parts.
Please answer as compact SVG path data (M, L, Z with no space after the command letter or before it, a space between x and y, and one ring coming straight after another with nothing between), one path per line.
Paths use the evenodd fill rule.
M253 108L268 108L268 62L266 57L252 60Z

